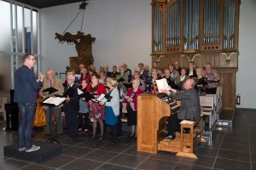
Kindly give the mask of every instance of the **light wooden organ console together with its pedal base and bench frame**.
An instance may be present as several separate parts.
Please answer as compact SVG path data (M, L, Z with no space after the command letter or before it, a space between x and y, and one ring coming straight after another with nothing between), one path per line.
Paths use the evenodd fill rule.
M181 135L177 133L174 140L166 139L166 122L172 114L179 110L180 102L168 97L166 94L142 94L137 97L137 151L156 154L158 150L180 152L183 150ZM196 123L196 122L195 122ZM193 125L192 125L193 127ZM195 130L195 132L201 132ZM188 144L193 139L201 140L201 135L190 138L190 134L184 135L184 143ZM200 138L197 138L200 137ZM192 139L192 141L190 141ZM185 147L186 148L186 147ZM184 152L192 151L185 150ZM194 156L196 157L196 156Z

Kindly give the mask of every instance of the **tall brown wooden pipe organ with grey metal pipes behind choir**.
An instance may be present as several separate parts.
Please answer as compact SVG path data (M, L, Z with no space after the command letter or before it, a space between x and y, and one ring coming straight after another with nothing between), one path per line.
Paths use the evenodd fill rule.
M218 71L223 109L236 109L240 0L152 0L152 62L207 62Z

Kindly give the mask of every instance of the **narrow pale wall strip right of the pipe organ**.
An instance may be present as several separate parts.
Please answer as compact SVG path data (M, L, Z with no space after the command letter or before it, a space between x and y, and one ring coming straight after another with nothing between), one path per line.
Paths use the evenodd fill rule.
M239 27L239 63L236 94L241 94L237 107L256 109L256 1L241 0Z

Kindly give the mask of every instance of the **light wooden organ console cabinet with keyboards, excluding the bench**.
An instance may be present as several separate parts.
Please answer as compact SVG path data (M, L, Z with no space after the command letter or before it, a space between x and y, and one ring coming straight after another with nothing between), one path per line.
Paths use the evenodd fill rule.
M156 154L161 150L161 133L168 117L178 111L179 105L161 94L142 94L137 98L137 150ZM178 146L172 151L179 150Z

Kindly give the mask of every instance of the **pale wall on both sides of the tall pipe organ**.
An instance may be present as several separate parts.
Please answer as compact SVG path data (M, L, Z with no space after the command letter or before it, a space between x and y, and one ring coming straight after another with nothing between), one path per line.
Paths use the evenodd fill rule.
M151 58L151 0L93 0L85 15L85 33L96 37L93 55L97 68L126 62L133 69L138 62L150 65ZM41 11L43 71L53 68L64 71L68 57L76 56L73 46L58 43L55 32L62 33L78 13L79 3ZM255 50L256 1L241 0L239 32L239 71L236 94L241 94L242 108L256 109ZM69 29L79 30L81 18Z

